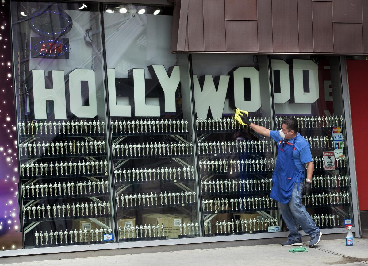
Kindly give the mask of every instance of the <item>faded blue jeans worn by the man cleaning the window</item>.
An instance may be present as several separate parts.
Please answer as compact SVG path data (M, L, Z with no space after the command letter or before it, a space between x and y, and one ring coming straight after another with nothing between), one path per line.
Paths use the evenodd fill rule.
M302 204L303 185L304 183L301 182L298 191L298 183L295 183L290 201L287 204L277 202L282 218L290 231L289 239L294 241L298 241L301 238L299 225L310 237L316 236L319 231L319 228L316 227L311 216Z

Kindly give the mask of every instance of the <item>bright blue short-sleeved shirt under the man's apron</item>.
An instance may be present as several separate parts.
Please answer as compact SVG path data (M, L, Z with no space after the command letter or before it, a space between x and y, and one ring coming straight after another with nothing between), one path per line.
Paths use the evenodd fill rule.
M282 141L282 137L280 137L278 130L271 130L270 137L276 141L278 145L280 140ZM293 139L289 139L289 143L293 143ZM312 153L311 147L306 139L298 133L297 139L295 141L295 150L294 150L294 162L295 166L300 170L305 170L305 164L307 162L312 162Z

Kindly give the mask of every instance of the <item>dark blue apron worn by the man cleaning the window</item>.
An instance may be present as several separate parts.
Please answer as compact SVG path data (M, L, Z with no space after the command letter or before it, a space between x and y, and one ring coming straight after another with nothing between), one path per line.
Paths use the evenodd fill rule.
M304 171L300 171L294 162L294 144L297 136L293 144L285 143L284 147L281 147L283 143L281 140L278 145L275 171L272 174L273 186L270 197L282 204L289 202L295 183L298 183L299 191L299 183L301 177L304 175Z

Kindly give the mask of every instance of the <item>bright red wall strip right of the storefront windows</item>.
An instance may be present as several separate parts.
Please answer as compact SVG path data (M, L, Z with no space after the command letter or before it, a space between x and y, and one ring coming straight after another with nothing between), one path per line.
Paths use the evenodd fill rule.
M368 61L347 60L359 209L368 210Z

